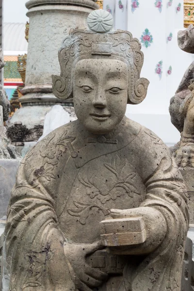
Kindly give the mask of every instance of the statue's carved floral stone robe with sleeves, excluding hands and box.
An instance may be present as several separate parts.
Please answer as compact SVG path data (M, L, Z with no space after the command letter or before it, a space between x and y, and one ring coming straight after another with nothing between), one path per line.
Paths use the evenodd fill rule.
M92 135L78 121L56 129L32 148L17 174L5 231L10 290L53 291L64 277L59 290L78 291L64 242L100 240L99 222L110 209L149 207L166 221L164 240L139 256L110 255L106 248L88 256L91 267L109 274L94 290L180 291L187 205L178 168L150 130L127 118L109 136Z

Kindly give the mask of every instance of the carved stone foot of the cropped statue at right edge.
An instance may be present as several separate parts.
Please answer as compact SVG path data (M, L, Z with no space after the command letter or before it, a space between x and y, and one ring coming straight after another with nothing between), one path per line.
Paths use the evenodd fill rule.
M188 143L185 146L180 146L176 161L179 167L194 167L194 144Z

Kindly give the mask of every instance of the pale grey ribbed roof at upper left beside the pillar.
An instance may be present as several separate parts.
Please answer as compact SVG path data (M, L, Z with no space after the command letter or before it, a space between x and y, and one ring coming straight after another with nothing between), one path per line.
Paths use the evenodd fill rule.
M3 50L27 51L25 23L3 23Z

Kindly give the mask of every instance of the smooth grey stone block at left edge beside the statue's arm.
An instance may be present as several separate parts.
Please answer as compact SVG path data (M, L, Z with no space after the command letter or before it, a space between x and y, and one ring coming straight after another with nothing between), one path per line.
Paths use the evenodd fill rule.
M7 214L12 188L16 182L18 160L0 160L0 220Z

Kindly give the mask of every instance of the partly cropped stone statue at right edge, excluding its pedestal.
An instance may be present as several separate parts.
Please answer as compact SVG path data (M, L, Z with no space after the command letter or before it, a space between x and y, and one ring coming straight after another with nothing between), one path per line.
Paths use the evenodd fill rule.
M178 32L178 46L185 52L194 53L194 26L190 25L186 30ZM174 148L175 156L178 154L178 165L192 166L190 155L184 155L184 145L194 143L194 123L192 120L193 93L194 90L194 62L186 70L174 97L171 98L169 111L173 125L181 133L181 141ZM194 144L193 144L194 146ZM177 152L178 149L181 152ZM186 150L187 152L187 150ZM183 157L184 156L184 157ZM194 166L194 165L193 165Z

